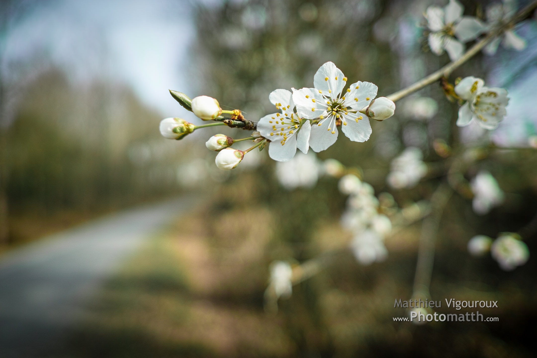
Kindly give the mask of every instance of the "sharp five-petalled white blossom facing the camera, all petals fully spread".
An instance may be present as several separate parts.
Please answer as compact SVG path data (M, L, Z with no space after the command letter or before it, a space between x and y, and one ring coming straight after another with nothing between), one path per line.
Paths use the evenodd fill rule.
M361 113L351 111L367 107L376 97L378 87L369 82L356 82L342 93L347 77L332 62L326 62L317 70L313 83L315 88L293 92L296 112L302 118L318 118L316 125L311 126L311 149L320 152L335 143L339 121L343 133L351 141L367 141L371 136L369 119Z

